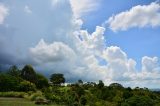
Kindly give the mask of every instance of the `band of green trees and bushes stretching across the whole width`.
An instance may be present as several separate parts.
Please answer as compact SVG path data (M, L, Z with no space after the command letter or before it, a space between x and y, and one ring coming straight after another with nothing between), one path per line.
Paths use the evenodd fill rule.
M7 72L0 73L0 96L24 92L25 96L21 97L31 95L35 101L43 103L49 100L67 106L160 106L160 92L147 88L125 88L118 83L105 86L101 80L98 83L78 80L67 86L63 83L65 77L61 73L53 73L47 79L31 65L24 66L22 70L11 66Z

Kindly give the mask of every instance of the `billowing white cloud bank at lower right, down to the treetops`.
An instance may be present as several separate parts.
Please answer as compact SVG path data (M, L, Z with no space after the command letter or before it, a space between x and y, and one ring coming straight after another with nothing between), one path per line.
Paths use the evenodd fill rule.
M126 53L117 46L107 47L103 52L107 61L104 81L107 83L119 82L126 86L145 87L147 83L154 82L148 87L156 86L160 79L160 64L158 57L142 57L142 68L136 68L136 61L127 58ZM129 84L130 83L130 84Z

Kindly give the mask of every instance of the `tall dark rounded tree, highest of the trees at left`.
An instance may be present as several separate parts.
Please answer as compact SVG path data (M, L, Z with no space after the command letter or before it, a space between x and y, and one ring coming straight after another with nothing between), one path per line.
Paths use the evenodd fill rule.
M21 72L21 77L32 83L36 82L36 72L31 65L25 65Z

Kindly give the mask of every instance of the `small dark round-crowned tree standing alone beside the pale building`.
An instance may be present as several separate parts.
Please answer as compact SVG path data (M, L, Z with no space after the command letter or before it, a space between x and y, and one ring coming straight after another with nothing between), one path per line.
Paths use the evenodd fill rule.
M54 85L60 85L61 83L65 83L65 78L64 78L63 74L56 73L56 74L51 75L50 81Z

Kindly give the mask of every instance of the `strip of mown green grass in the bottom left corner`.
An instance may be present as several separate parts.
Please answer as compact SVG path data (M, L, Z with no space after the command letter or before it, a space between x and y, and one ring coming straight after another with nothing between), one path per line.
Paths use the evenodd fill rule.
M0 106L58 106L58 105L35 105L34 102L23 98L0 97Z

